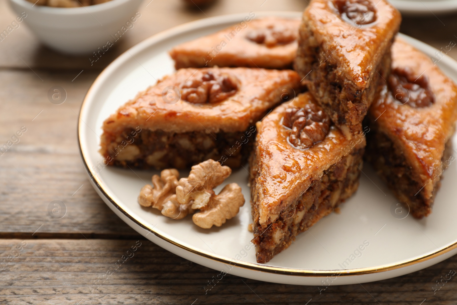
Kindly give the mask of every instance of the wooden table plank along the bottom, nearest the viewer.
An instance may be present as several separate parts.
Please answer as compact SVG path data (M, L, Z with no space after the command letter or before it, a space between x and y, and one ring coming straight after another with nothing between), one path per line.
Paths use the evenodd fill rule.
M140 245L141 246L138 246ZM22 245L22 251L14 252ZM26 246L24 246L26 245ZM136 251L127 252L129 249ZM0 304L455 304L457 256L399 278L346 286L272 284L177 257L149 241L0 240ZM18 253L18 254L17 254ZM125 255L129 258L123 258ZM118 261L122 261L122 263ZM116 262L118 262L116 264ZM3 267L0 267L3 268ZM206 288L206 289L205 289ZM312 299L312 300L311 300Z

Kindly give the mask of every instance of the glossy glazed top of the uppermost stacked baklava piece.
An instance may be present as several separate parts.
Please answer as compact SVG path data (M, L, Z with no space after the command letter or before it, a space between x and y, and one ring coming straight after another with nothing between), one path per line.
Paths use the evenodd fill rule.
M401 21L399 11L387 0L369 2L376 10L376 21L365 25L343 20L332 0L313 0L303 12L303 22L328 54L327 60L335 59L330 64L342 65L349 80L361 88L367 86L373 69L388 51Z

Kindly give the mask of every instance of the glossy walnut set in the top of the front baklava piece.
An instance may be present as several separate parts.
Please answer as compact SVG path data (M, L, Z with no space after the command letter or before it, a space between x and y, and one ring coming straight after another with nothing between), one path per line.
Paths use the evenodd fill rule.
M306 149L326 137L330 128L330 118L321 107L307 104L301 109L288 108L282 124L292 129L289 142L297 148Z

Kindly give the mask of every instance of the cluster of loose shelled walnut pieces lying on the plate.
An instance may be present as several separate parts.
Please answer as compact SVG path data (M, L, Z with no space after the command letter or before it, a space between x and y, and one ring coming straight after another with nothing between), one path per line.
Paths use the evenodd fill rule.
M192 166L189 177L179 182L176 169L163 170L160 177L152 177L154 187L145 185L141 189L138 203L159 209L170 219L182 219L199 209L192 217L196 225L204 229L221 226L244 204L241 187L236 183L226 185L218 195L213 191L231 173L228 166L211 159Z

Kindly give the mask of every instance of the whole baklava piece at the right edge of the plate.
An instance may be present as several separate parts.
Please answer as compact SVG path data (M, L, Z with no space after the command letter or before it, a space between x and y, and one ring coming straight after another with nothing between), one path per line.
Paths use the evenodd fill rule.
M392 74L368 111L366 158L415 218L431 213L441 174L455 160L456 118L456 85L397 38Z

